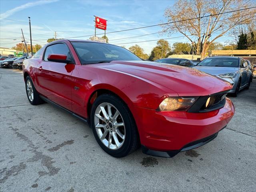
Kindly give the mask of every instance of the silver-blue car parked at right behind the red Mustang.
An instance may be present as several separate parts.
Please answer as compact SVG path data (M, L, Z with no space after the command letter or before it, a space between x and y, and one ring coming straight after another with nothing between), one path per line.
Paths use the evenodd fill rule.
M194 69L218 76L233 85L228 93L237 96L243 88L249 89L252 82L252 71L246 60L240 57L217 56L202 60Z

